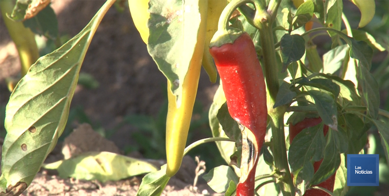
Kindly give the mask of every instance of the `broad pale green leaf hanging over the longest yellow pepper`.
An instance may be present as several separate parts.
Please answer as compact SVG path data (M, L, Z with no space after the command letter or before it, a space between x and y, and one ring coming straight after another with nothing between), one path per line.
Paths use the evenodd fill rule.
M196 45L197 48L199 45L201 49L204 47L204 40L197 40L200 21L203 19L199 12L200 2L199 0L149 2L150 36L147 49L159 70L172 83L171 90L177 96L177 106L181 104L182 84L195 54Z

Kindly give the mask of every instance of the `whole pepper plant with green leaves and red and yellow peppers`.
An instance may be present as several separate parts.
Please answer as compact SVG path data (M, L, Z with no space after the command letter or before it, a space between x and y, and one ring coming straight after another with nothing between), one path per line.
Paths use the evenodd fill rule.
M39 58L18 82L6 108L1 191L26 188L55 146L89 43L114 2L107 0L83 31ZM375 3L352 2L361 11L362 28L373 18ZM139 196L160 195L182 157L207 142L216 142L229 166L203 178L226 196L343 196L349 190L345 155L366 153L372 126L388 160L389 113L379 109L378 83L370 72L374 50L388 46L352 29L342 0L128 4L168 82L167 164L143 178ZM318 36L331 40L322 58ZM213 137L185 148L201 65L210 82L219 81L209 111Z

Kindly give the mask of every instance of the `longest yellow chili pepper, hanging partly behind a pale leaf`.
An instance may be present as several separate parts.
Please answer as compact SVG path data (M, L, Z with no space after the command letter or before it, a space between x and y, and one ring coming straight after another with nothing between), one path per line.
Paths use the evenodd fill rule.
M169 177L174 176L181 166L189 126L191 124L204 50L207 3L207 0L199 1L201 21L197 33L197 43L188 72L182 83L182 99L179 107L176 104L176 96L170 88L172 84L168 81L167 92L169 106L166 119L166 175Z

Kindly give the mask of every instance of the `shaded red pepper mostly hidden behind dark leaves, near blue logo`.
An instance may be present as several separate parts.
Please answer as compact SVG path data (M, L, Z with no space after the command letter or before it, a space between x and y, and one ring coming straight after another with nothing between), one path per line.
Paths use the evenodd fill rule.
M299 123L296 123L296 125L292 125L292 123L289 124L289 142L292 144L293 139L297 134L299 134L303 129L308 128L308 127L313 127L318 125L321 122L321 118L304 118ZM323 127L323 133L324 136L328 132L328 126L324 125ZM317 161L313 164L313 167L315 169L315 172L318 171L320 164L323 160ZM332 175L330 178L327 180L321 182L318 185L315 186L320 186L323 187L331 192L334 191L334 185L335 185L335 176L336 172L334 175ZM309 189L307 190L303 196L330 196L329 194L325 193L324 191L318 190L318 189Z

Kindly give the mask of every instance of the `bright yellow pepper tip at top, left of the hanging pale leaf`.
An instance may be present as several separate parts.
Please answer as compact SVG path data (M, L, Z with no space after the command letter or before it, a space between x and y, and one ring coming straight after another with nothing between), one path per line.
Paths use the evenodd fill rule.
M150 13L148 12L149 0L128 0L128 6L135 27L141 34L143 42L147 44L149 38L147 21L150 18Z

